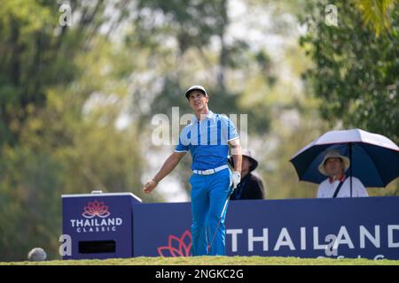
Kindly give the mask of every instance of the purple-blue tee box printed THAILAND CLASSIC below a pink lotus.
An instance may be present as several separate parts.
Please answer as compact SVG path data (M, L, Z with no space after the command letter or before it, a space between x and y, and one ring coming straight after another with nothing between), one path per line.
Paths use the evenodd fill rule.
M133 256L132 206L139 203L130 193L62 195L62 230L72 245L63 259Z

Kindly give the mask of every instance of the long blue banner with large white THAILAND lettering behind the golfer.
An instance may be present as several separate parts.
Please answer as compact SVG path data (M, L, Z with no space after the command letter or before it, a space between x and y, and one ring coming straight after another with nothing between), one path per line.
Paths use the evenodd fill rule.
M191 203L135 205L134 256L191 256ZM399 197L234 201L228 256L399 259Z

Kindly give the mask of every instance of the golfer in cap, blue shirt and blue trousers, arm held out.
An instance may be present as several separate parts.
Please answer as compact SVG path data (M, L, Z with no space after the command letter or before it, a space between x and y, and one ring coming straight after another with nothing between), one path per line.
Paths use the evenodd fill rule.
M231 185L241 179L239 134L231 120L207 108L209 96L201 86L185 92L195 118L179 136L175 152L168 157L153 180L143 188L151 194L160 180L172 172L187 151L192 154L192 256L224 256L225 227L223 211ZM234 171L227 165L231 147ZM221 215L223 212L223 215Z

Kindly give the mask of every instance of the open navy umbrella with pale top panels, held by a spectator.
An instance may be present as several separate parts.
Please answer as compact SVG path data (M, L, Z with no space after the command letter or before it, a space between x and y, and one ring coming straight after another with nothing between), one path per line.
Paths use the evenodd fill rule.
M349 158L349 176L361 180L364 187L386 187L399 176L399 148L394 142L381 134L351 129L327 132L291 157L300 180L317 184L325 180L317 166L329 149Z

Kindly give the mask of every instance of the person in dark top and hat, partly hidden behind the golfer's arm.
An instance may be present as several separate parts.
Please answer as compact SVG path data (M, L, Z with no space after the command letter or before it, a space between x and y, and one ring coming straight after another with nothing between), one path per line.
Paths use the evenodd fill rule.
M231 157L229 157L229 164L234 166ZM242 154L241 181L234 193L231 195L231 201L263 199L264 187L262 180L252 173L257 166L258 162L252 156L251 151L246 150Z

